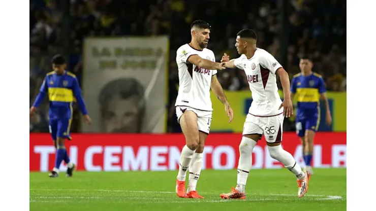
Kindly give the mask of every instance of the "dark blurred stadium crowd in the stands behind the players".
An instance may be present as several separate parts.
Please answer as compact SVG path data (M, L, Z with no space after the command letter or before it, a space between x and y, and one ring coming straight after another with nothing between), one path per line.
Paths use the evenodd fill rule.
M238 56L235 35L242 28L255 29L258 47L280 60L278 36L289 32L287 63L283 65L290 76L299 73L299 56L309 55L314 71L324 77L328 91L346 91L346 4L339 0L293 0L289 4L288 28L278 23L276 4L276 0L150 0L148 4L137 0L71 0L69 70L81 80L85 37L168 34L168 122L169 132L176 132L176 49L190 41L190 23L204 19L212 25L208 48L214 51L216 60L225 52L231 58ZM30 0L30 105L45 74L51 71L51 56L62 52L62 21L61 0ZM238 69L220 72L218 79L226 90L249 89L244 72ZM30 119L30 132L48 132L47 102L45 99L38 115ZM80 116L77 107L74 110L71 131L77 132Z

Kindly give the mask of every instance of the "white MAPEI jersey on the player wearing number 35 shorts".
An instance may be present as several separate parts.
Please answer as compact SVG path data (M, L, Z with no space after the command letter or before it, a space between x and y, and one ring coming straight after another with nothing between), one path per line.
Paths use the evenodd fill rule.
M252 92L253 101L248 113L260 117L283 113L283 108L278 110L282 101L275 75L277 69L282 67L279 62L264 49L257 48L252 58L247 59L245 54L242 54L235 59L234 64L244 70Z

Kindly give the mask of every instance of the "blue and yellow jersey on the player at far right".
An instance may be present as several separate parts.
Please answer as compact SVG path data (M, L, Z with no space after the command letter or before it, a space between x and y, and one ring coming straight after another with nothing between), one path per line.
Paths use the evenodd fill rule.
M317 109L320 94L326 92L323 77L317 73L309 76L297 74L291 82L291 93L297 98L297 109Z

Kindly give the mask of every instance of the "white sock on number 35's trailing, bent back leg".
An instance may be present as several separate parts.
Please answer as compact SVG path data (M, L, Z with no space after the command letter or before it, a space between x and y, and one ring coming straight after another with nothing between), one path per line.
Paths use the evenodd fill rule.
M299 180L305 177L304 172L302 171L294 157L289 152L282 149L280 145L274 147L268 146L268 151L270 157L284 164L285 167L293 172Z

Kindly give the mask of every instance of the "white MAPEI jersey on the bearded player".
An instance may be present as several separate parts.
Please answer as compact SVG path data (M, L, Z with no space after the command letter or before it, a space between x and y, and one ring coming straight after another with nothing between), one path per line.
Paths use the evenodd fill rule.
M179 71L179 91L175 106L186 106L202 111L212 111L210 99L211 77L216 69L204 69L191 64L187 59L192 55L215 61L213 51L204 48L201 51L185 44L176 51L176 63Z

